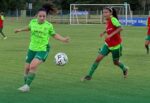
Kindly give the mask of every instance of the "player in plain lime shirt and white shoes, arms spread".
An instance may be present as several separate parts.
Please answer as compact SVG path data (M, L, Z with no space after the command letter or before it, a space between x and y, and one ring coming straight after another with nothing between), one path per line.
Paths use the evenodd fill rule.
M21 92L28 92L30 90L30 85L35 78L38 66L45 62L50 50L49 38L53 37L64 43L69 42L68 37L62 37L57 34L54 31L53 25L46 20L47 11L49 10L54 10L51 5L49 8L39 9L37 19L32 19L28 27L15 30L15 33L22 31L31 32L31 41L25 64L25 84L18 89Z

